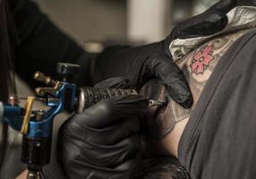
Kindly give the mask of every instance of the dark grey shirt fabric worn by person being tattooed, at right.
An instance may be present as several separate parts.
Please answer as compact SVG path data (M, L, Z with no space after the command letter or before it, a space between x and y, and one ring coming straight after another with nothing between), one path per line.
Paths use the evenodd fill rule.
M196 179L256 175L256 30L238 39L212 73L179 143Z

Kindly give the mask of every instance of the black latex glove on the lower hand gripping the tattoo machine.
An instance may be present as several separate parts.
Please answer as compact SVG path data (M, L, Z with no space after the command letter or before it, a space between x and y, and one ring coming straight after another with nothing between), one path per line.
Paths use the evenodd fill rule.
M102 85L103 84L103 85ZM127 87L112 79L97 87ZM148 107L139 96L112 98L73 115L61 127L58 155L68 178L120 179L134 175L141 163L137 115Z

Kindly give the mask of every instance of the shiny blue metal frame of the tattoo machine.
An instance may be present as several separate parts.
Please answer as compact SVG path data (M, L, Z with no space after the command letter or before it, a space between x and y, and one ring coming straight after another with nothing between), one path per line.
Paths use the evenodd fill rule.
M47 103L47 106L50 107L50 109L47 110L44 118L41 121L37 121L35 118L30 119L29 131L27 133L28 137L45 138L51 136L55 115L64 111L65 92L69 91L71 93L71 107L74 107L76 86L68 82L62 82L61 84L61 88L56 91L54 96L54 98L58 98L58 100ZM1 118L3 118L2 120L7 122L14 130L21 131L23 123L22 107L3 105L3 103L0 102L0 119Z

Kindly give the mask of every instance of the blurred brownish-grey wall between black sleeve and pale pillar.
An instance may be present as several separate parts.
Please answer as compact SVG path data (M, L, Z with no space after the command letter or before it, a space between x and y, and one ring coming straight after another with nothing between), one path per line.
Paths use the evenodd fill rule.
M125 0L34 0L55 23L80 43L126 38Z

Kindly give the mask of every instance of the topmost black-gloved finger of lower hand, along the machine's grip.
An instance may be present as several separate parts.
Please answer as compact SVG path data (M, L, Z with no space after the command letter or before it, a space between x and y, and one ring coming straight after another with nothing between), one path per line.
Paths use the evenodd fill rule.
M83 127L102 128L123 117L132 117L144 113L148 108L148 99L138 95L111 98L98 102L84 110L80 115L73 115L70 126L82 130Z

